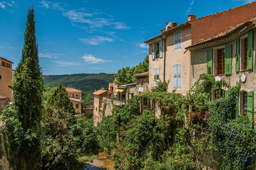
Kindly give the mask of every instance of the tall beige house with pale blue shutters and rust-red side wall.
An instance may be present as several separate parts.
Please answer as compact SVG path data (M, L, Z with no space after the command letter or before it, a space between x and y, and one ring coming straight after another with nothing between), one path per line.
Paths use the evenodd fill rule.
M256 16L256 1L223 12L196 19L188 15L188 21L177 26L170 22L161 34L145 41L148 52L148 88L158 81L169 81L168 91L186 95L191 88L191 52L186 47L207 37L222 33L241 22Z

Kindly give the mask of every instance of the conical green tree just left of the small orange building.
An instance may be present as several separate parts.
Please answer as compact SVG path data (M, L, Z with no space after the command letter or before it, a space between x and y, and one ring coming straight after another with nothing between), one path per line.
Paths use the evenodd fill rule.
M75 114L73 104L70 101L68 93L62 84L59 84L57 88L52 89L51 97L48 98L47 103L49 106L60 109L63 112L70 112Z

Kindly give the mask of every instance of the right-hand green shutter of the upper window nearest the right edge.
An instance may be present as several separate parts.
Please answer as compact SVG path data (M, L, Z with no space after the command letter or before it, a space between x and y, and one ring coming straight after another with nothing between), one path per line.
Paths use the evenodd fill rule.
M253 31L248 33L247 69L252 70L253 64Z

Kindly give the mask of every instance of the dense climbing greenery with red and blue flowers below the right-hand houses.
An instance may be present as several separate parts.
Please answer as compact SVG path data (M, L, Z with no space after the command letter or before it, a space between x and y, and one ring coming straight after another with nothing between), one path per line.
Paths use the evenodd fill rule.
M226 96L209 100L211 88L229 88ZM183 97L166 92L166 82L131 98L97 127L100 146L118 169L246 169L252 166L256 133L248 118L236 118L237 93L224 81L203 74ZM161 109L138 114L146 97Z

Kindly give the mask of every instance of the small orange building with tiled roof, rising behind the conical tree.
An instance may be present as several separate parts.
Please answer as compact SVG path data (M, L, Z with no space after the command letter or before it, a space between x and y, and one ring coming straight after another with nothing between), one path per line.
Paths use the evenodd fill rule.
M74 88L66 88L68 92L68 97L73 103L75 112L78 114L82 113L82 91Z

